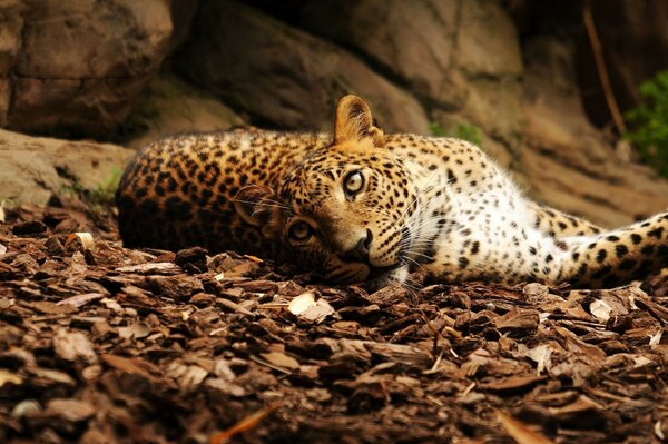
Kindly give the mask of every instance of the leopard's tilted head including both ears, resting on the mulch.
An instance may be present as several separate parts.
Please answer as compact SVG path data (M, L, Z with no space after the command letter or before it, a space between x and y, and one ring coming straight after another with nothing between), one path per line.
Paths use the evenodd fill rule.
M369 106L338 102L333 144L287 172L277 190L248 187L237 211L281 245L286 259L336 283L373 287L407 275L406 226L416 201L401 159Z

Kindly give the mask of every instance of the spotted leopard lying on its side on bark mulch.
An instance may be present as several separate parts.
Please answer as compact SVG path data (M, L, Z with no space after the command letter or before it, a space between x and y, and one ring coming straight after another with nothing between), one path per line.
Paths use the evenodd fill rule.
M478 146L385 134L343 97L332 134L237 128L138 151L117 193L127 247L200 246L334 284L610 288L668 266L668 213L617 229L540 205Z

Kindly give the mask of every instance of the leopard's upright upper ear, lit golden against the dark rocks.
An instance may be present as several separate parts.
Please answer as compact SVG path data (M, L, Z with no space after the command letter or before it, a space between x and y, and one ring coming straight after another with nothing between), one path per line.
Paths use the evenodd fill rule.
M334 145L371 140L374 146L385 145L383 130L375 125L369 105L357 96L345 96L336 106Z

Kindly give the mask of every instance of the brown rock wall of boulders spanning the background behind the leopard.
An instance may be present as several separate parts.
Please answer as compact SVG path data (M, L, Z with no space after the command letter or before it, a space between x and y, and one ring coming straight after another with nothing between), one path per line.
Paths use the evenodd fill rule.
M592 12L620 102L631 106L635 85L661 68L654 55L668 52L668 3L610 1L592 1ZM243 122L330 130L336 100L354 92L387 131L474 126L529 194L620 225L668 207L668 185L591 124L609 116L582 7L4 0L0 127L132 147Z

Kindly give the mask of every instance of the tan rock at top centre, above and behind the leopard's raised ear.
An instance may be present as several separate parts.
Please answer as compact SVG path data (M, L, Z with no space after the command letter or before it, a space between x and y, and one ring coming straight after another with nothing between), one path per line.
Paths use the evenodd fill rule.
M419 97L456 108L462 97L459 91L452 93L449 85L458 12L451 3L298 1L294 14L285 19L355 48L365 59L382 67L382 71L400 76Z

